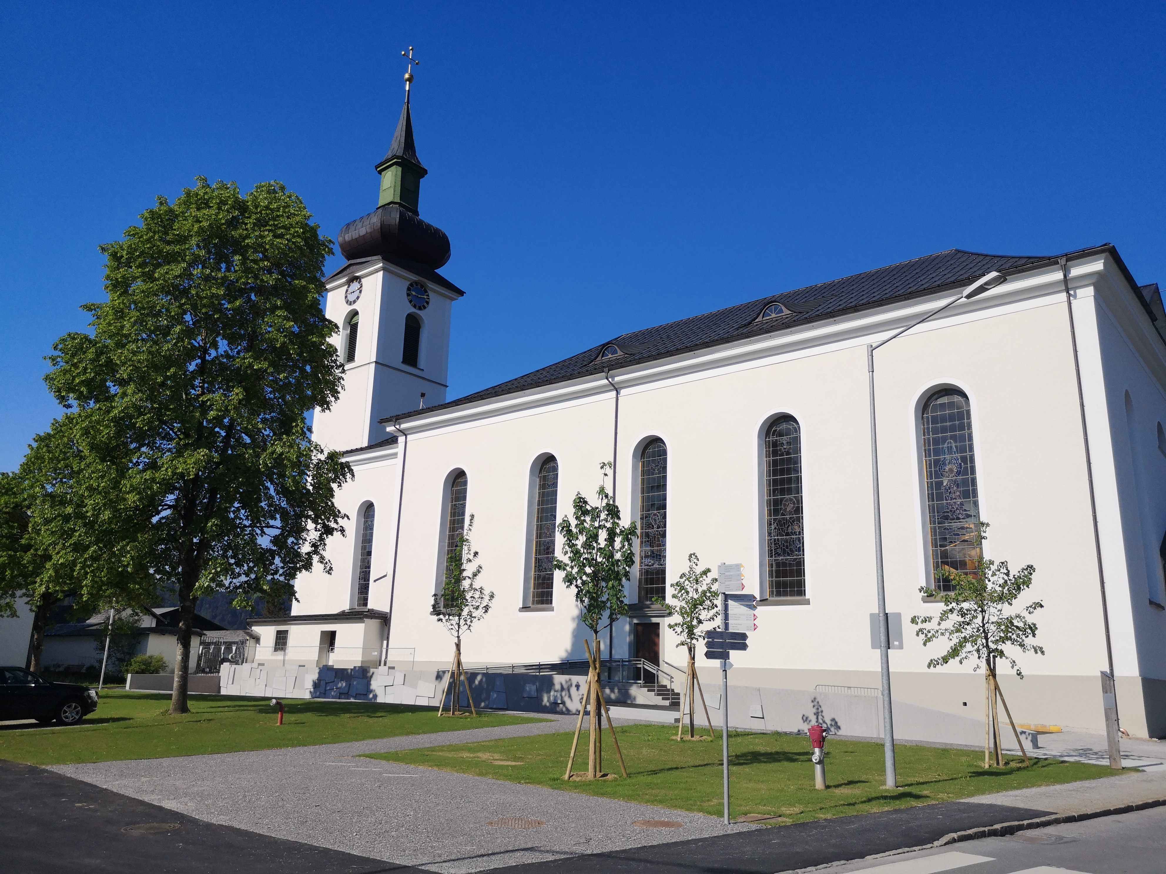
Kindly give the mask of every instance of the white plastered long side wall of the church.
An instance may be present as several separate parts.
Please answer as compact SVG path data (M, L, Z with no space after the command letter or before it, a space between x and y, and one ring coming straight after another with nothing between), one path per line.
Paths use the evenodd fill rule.
M1091 275L1109 269L1100 258L1075 268L1075 275L1081 274L1075 282L1088 284ZM759 609L749 651L733 660L733 682L795 689L878 684L878 654L870 649L868 634L868 614L876 604L865 344L946 298L909 302L890 315L838 318L801 336L763 339L770 344L765 348L715 348L616 372L621 386L616 492L625 520L633 517L635 506L635 447L648 436L661 437L668 446L669 580L695 551L709 566L744 563L747 579L761 592L757 443L777 414L794 415L801 424L810 602ZM1104 516L1107 507L1118 506L1121 486L1109 442L1097 436L1108 428L1107 386L1096 320L1082 303L1075 310L1077 334L1109 569L1125 559L1121 523L1115 529ZM981 508L991 523L986 552L1013 568L1034 564L1031 599L1045 604L1037 621L1046 655L1023 656L1026 679L1004 681L1013 714L1021 721L1100 727L1096 686L1097 671L1107 664L1104 629L1059 270L1013 279L876 355L887 604L904 614L907 628L905 648L892 653L895 696L962 714L975 711L977 695L982 700L982 675L972 674L970 665L927 668L937 649L925 649L908 621L913 614L939 609L919 593L928 577L919 407L933 389L957 386L972 407ZM410 437L389 646L416 648L419 662L449 658L451 641L430 608L445 523L443 488L450 471L462 468L469 480L468 513L476 516L473 544L485 569L482 583L496 592L492 612L464 642L465 661L582 656L585 632L561 580L553 611L521 611L529 572L529 477L540 456L559 459L560 519L576 492L593 499L598 465L611 454L612 415L611 388L592 379L403 422ZM395 471L395 461L389 465L386 458L384 464ZM356 482L342 493L343 507L351 507L351 514L366 495L378 501L379 543L393 534L392 524L381 520L387 523L395 513L395 477L371 464L358 467ZM382 505L392 506L384 516ZM351 538L333 543L342 544L330 547L333 582L317 585L318 576L303 580L297 612L347 606L353 544ZM392 549L377 555L374 577L391 566ZM336 579L344 582L344 598ZM1121 586L1110 579L1110 588ZM373 587L370 606L388 608L384 586ZM1109 609L1119 679L1137 681L1129 597L1112 593ZM1154 658L1166 657L1161 640L1146 639ZM613 655L626 655L626 630L614 641ZM666 629L661 656L673 662L679 656ZM1137 711L1123 711L1135 733L1145 729Z

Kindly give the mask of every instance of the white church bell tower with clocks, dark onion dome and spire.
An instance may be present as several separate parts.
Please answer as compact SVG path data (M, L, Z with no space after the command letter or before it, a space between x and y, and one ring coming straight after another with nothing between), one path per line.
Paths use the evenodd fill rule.
M417 212L428 170L413 140L412 47L406 57L405 106L388 154L375 164L377 209L340 228L347 263L326 282L325 315L340 326L333 339L344 389L330 410L316 410L312 430L335 450L388 437L380 418L444 403L450 317L465 294L437 273L449 261L449 238Z

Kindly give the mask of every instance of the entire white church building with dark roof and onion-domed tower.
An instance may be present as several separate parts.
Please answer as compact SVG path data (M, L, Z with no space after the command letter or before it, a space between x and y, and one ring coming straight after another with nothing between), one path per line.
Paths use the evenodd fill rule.
M255 621L259 661L380 665L408 650L448 665L433 595L471 515L496 600L466 663L583 657L554 528L614 461L640 538L612 656L682 663L652 599L696 552L744 564L758 598L730 683L878 686L866 347L995 270L1006 281L874 353L887 609L906 635L894 698L982 716L982 675L928 669L937 649L909 616L939 611L920 590L942 585L941 565L967 568L989 522L984 555L1035 565L1025 602L1044 602L1045 655L1003 678L1018 721L1101 728L1112 664L1123 727L1166 734L1166 311L1114 246L949 251L774 290L448 400L463 291L436 273L448 239L417 216L408 104L378 171L380 205L340 232L347 263L328 281L344 393L314 422L354 473L338 495L347 531L329 544L333 572L297 582L292 616ZM698 667L711 678L715 663Z

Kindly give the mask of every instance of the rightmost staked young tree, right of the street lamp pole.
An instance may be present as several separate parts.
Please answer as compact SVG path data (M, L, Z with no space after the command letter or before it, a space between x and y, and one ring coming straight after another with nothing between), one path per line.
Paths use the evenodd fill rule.
M977 544L986 538L986 529L988 523L982 522ZM985 725L985 731L996 738L997 764L1003 761L996 698L1004 698L997 684L997 660L1006 662L1018 677L1024 677L1013 653L1045 655L1045 648L1034 642L1037 623L1028 618L1045 605L1032 601L1019 611L1013 609L1016 600L1032 585L1033 573L1035 568L1031 564L1013 573L1007 562L986 558L977 559L971 573L943 566L940 575L950 585L949 591L936 592L926 586L919 590L928 597L939 595L942 602L939 615L911 618L911 623L918 626L915 636L922 639L925 647L940 641L947 646L942 654L927 662L928 668L940 668L953 662L975 662L974 671L984 668L985 703L989 703L985 707L985 723L990 724ZM1004 706L1006 709L1007 704ZM1020 743L1019 736L1017 743Z

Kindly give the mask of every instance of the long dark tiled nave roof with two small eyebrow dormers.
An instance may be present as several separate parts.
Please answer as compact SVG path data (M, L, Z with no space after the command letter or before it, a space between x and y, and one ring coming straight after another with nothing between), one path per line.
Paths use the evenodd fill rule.
M1090 252L1095 248L1097 247L1079 252ZM549 367L465 395L456 401L428 407L423 410L402 413L399 418L406 420L433 410L590 376L603 373L605 368L621 368L681 352L774 333L786 327L801 326L810 322L879 306L891 301L907 299L947 287L963 286L992 270L1007 273L1038 263L1055 263L1058 258L1059 255L988 255L979 252L948 249L934 255L925 255L911 261L901 261L888 267L858 273L854 276L760 297L715 312L669 322L666 325L620 334ZM788 311L787 315L759 322L758 316L761 310L774 302L780 303ZM600 360L599 353L610 344L614 344L624 354ZM381 422L387 421L389 420L381 420Z

